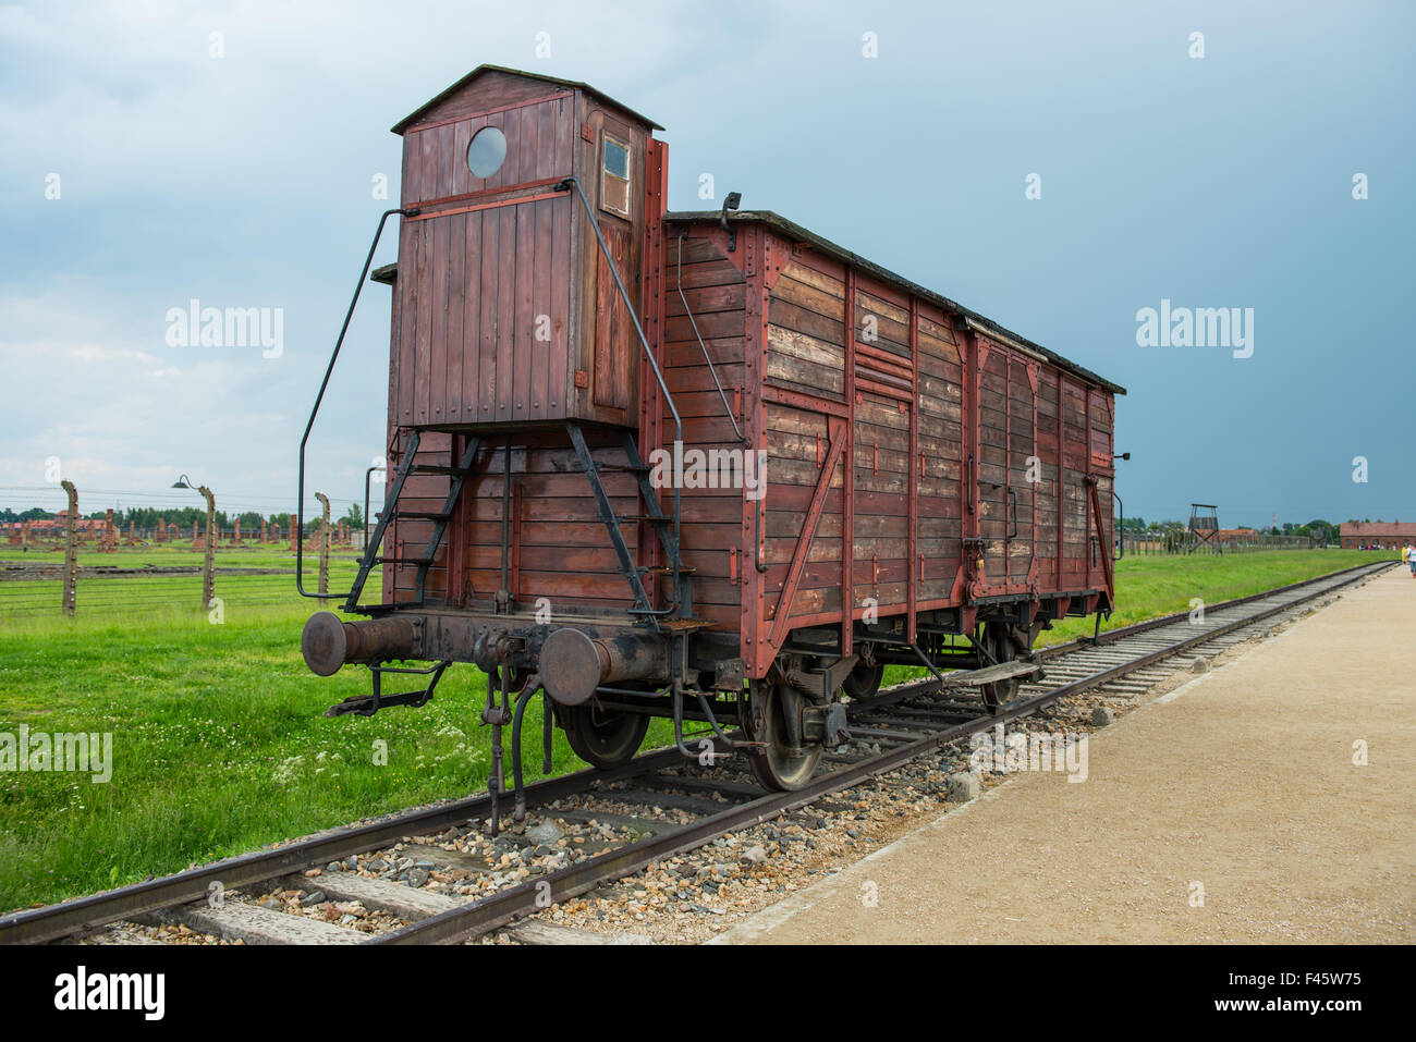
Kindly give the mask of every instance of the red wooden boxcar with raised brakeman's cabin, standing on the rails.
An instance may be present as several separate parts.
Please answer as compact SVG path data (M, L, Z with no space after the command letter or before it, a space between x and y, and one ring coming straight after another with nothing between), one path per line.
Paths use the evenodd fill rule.
M494 67L395 127L371 617L302 646L374 670L331 712L473 663L494 726L544 692L613 766L649 716L702 721L796 787L885 664L997 706L1041 629L1112 609L1123 389L775 214L666 212L654 129ZM426 684L384 692L411 658Z

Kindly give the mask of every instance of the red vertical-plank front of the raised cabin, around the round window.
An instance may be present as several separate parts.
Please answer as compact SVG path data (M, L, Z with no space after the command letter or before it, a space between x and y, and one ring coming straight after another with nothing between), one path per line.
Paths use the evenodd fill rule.
M392 367L399 425L565 415L572 200L476 210L470 207L489 201L459 197L496 195L568 174L571 109L569 98L558 96L408 132L404 205L425 212L404 219L399 239L399 347ZM506 133L507 159L491 177L477 178L466 153L483 126ZM549 319L549 340L535 336L539 314Z

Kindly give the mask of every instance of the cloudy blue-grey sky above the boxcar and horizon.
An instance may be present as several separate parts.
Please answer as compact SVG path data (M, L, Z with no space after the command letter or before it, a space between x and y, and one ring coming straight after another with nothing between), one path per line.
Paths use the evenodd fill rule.
M388 127L496 62L667 126L673 208L711 173L1127 387L1129 514L1416 520L1413 11L0 3L0 505L52 505L58 457L85 510L181 471L287 510ZM282 309L280 355L170 345L193 299ZM1253 309L1252 355L1140 345L1161 300ZM337 507L381 452L388 310L370 286L312 443Z

